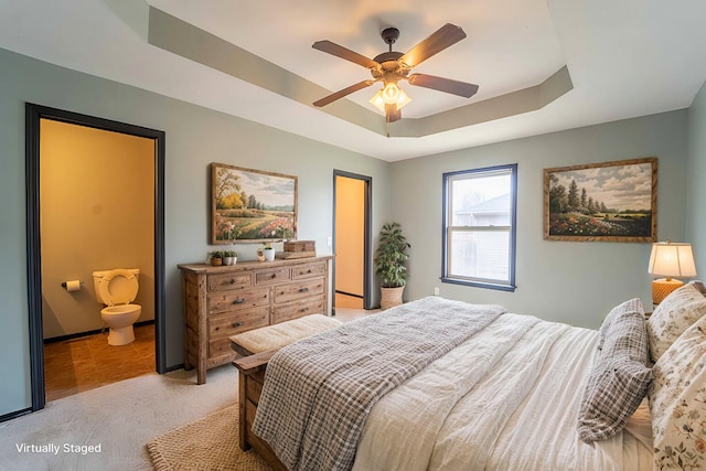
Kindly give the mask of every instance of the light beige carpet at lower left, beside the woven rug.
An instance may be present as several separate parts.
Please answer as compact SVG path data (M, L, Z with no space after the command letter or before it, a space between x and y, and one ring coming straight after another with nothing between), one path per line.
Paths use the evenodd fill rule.
M0 470L152 470L148 441L237 403L233 365L207 376L202 385L195 370L140 376L0 422Z

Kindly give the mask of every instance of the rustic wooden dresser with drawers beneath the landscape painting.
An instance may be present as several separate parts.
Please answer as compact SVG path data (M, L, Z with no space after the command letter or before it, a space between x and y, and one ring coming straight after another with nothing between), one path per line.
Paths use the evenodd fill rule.
M308 314L329 312L332 257L179 265L184 297L184 368L206 371L235 360L228 338Z

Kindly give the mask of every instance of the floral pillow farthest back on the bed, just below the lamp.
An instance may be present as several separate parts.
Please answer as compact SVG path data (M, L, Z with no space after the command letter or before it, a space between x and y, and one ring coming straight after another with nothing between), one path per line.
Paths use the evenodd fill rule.
M650 356L653 362L694 322L706 314L700 281L686 283L664 298L648 319Z

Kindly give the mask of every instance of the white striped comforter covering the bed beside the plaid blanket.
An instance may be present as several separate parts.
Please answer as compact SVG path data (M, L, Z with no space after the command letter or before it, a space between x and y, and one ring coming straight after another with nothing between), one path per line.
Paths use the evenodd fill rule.
M579 404L598 333L504 314L371 410L354 470L651 470L644 409L584 443Z

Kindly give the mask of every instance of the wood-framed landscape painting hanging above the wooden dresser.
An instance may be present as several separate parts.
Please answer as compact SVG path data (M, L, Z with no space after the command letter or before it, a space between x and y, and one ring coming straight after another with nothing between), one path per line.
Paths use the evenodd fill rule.
M297 176L211 163L211 244L297 238Z

